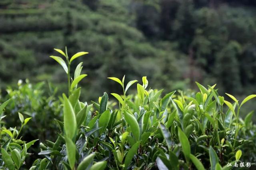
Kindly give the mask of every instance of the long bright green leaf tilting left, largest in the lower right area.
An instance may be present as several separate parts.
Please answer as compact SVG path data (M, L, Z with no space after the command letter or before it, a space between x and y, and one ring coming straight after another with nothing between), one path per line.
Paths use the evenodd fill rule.
M178 137L181 143L182 152L186 158L186 161L189 162L190 160L190 143L186 134L178 127Z

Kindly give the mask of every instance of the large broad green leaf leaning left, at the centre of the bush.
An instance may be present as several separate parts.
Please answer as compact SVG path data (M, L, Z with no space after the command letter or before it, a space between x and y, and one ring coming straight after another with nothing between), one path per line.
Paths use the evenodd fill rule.
M139 127L139 124L138 124L137 120L135 119L134 115L132 115L132 114L128 113L126 110L124 110L124 119L130 126L135 141L139 141L140 140L140 127Z

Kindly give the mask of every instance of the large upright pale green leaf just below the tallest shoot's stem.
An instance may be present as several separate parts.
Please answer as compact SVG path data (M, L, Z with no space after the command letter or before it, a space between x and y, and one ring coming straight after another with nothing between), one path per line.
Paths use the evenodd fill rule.
M64 98L64 130L68 138L72 139L76 133L76 115L74 109L65 94Z

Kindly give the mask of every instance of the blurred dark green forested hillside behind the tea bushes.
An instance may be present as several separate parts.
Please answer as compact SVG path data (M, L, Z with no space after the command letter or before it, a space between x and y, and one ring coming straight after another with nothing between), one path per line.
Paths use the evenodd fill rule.
M88 51L84 100L117 92L109 76L147 76L150 87L255 93L255 0L0 0L0 88L19 79L66 92L66 74L49 55ZM74 68L75 65L74 64ZM46 88L48 88L46 86Z

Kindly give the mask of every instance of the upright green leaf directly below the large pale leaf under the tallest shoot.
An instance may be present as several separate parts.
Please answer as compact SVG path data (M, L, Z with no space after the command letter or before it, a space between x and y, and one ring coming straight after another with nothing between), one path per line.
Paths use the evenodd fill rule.
M65 141L66 141L66 152L68 155L68 163L71 169L73 169L76 162L76 145L73 143L73 141L69 137L65 137Z

